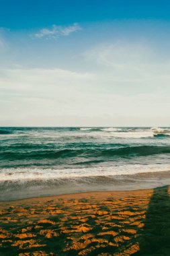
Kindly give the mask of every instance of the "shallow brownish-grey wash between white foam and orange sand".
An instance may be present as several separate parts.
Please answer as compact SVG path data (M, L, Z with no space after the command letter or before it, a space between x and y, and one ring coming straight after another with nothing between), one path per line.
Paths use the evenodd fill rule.
M16 188L17 185L17 188ZM170 185L170 170L162 172L140 172L136 174L110 177L86 177L86 179L62 179L52 181L18 181L0 183L0 202L34 199L41 197L61 197L79 193L118 192L154 189ZM123 190L122 190L123 189Z

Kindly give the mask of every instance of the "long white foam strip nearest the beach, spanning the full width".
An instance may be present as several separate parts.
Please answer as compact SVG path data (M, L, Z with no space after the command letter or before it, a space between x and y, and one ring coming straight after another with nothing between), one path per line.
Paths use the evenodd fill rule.
M108 177L122 174L136 174L140 172L161 172L170 170L170 164L126 164L121 166L102 166L93 168L2 168L0 181L35 181L51 179L70 179L78 177Z

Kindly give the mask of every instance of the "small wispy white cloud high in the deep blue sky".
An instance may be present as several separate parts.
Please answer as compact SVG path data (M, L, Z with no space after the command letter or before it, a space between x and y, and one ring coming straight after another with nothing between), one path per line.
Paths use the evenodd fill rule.
M56 26L53 25L51 28L42 28L39 32L34 34L34 38L58 38L59 36L69 36L73 32L77 32L82 28L77 24L71 26Z

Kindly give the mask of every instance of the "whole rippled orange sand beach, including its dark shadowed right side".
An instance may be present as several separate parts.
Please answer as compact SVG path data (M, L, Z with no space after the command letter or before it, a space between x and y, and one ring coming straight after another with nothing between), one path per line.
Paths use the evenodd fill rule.
M170 255L170 188L1 201L0 255Z

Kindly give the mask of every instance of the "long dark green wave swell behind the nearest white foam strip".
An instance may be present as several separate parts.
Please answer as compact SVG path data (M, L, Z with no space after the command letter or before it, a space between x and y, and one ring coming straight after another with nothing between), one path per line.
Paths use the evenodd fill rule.
M62 150L21 150L7 151L1 154L1 160L44 160L58 158L113 158L114 156L150 156L169 154L170 146L125 146L116 148L73 148Z

